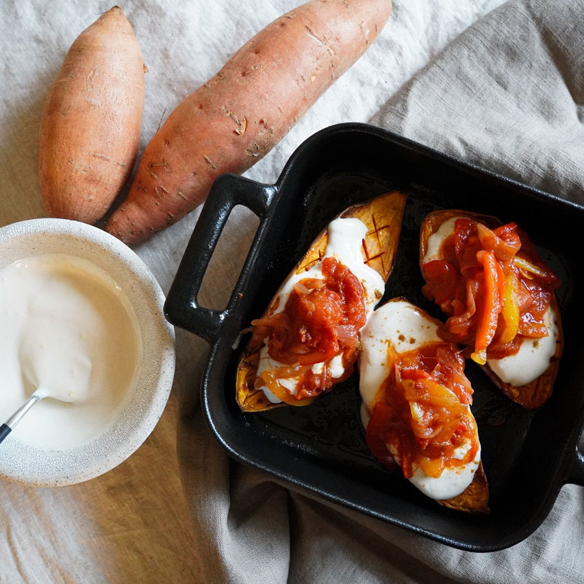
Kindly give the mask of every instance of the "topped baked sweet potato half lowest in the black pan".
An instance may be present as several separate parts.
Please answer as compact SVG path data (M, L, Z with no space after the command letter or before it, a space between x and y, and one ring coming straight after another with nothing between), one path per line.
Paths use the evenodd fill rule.
M472 386L444 324L396 298L361 331L361 420L372 455L440 505L489 509Z

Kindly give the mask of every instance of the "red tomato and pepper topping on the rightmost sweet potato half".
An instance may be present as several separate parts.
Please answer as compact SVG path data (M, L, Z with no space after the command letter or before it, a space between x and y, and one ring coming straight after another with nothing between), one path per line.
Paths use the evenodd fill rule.
M513 355L523 338L548 334L544 314L559 279L516 223L490 229L458 218L440 256L422 265L422 292L448 314L453 338L474 345L474 361Z

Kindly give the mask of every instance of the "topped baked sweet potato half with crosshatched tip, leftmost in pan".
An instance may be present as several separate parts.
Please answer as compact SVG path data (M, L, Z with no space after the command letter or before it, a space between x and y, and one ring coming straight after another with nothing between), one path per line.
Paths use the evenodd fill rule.
M353 372L359 330L383 296L406 195L392 191L331 221L251 323L238 363L243 411L312 403Z

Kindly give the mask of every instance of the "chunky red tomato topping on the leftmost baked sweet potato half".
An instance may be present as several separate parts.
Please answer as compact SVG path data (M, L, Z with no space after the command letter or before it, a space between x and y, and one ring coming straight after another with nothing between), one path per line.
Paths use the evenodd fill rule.
M262 374L259 380L277 395L282 391L275 387L279 378L298 381L294 396L298 400L331 388L333 377L327 361L335 355L342 355L346 369L342 379L353 371L359 329L366 321L363 286L335 257L322 260L322 276L301 279L280 312L252 322L253 334L267 342L268 355L288 366ZM323 365L313 370L316 364Z

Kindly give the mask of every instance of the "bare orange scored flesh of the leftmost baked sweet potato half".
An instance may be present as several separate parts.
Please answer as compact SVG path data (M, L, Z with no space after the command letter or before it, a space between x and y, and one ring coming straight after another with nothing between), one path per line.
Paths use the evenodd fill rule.
M364 261L368 266L377 270L384 281L387 281L394 264L405 200L406 195L403 192L392 191L368 203L350 207L340 214L343 218L358 218L366 225L367 233L362 247ZM309 270L318 262L325 255L328 240L327 229L325 229L314 240L299 264L290 272L290 277ZM270 302L264 316L270 316L277 309L279 290ZM264 411L285 405L285 403L271 403L262 390L257 390L254 387L261 346L261 340L255 342L252 338L238 364L236 398L243 411ZM292 398L289 405L308 405L312 401L314 398L303 400Z

